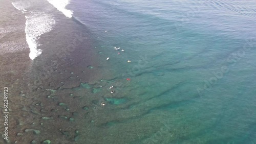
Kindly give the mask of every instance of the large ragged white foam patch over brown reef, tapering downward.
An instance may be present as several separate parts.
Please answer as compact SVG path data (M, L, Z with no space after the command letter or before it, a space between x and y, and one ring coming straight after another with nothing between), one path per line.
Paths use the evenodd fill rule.
M30 3L29 3L30 4ZM29 57L31 60L35 59L39 56L42 51L37 49L37 46L41 45L37 42L39 36L50 32L55 25L55 20L51 14L46 12L38 12L38 11L28 11L28 5L24 5L21 1L17 1L12 3L12 5L22 11L26 17L26 40L29 45L30 54Z

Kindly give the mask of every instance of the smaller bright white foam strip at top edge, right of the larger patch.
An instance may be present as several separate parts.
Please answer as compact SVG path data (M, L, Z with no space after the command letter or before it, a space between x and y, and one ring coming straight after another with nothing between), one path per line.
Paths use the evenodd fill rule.
M73 11L67 10L66 6L69 4L69 0L47 0L52 4L58 11L62 12L65 16L71 18Z

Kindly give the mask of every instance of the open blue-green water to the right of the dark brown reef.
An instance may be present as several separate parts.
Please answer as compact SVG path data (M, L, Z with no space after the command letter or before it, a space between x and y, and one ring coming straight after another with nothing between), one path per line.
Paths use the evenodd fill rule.
M131 78L119 91L137 119L114 118L115 127L158 117L163 126L135 143L255 143L255 4L71 3L102 60L110 57L113 80Z

